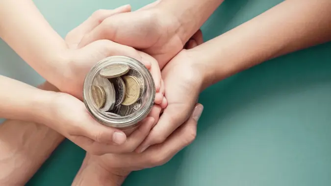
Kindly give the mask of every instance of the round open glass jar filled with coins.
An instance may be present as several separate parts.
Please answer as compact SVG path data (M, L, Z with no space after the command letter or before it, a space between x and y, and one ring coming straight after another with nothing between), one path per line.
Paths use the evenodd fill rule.
M83 100L91 116L122 130L137 126L151 111L154 98L152 74L127 56L101 60L84 81Z

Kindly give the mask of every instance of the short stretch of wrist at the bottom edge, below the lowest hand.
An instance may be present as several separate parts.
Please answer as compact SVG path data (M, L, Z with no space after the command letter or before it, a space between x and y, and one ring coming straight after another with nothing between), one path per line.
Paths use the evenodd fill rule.
M121 186L125 179L109 173L86 155L72 186Z

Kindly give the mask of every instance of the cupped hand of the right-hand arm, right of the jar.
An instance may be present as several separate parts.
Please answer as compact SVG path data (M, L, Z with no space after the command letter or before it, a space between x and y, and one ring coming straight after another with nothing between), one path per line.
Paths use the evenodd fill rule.
M192 38L186 44L188 49L203 43L200 34ZM202 68L191 58L189 50L183 49L162 70L168 106L136 152L143 152L153 144L162 143L191 115L203 87ZM202 106L197 108L202 109Z

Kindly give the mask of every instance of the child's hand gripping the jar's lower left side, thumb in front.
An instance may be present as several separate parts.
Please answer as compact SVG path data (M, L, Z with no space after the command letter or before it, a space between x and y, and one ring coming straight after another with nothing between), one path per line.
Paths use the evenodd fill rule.
M147 117L129 137L119 129L97 122L76 97L45 82L39 89L49 91L49 109L44 124L59 132L90 154L132 152L148 135L154 118Z

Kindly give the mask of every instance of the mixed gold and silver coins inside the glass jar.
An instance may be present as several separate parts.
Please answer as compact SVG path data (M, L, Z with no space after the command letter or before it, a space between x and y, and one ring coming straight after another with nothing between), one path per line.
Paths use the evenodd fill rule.
M138 70L127 65L111 65L102 69L94 79L92 98L97 108L105 114L127 116L140 108L144 84Z

